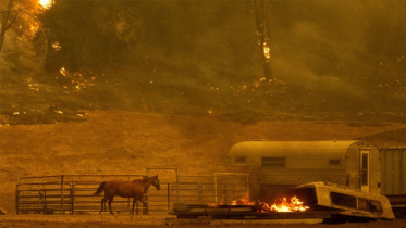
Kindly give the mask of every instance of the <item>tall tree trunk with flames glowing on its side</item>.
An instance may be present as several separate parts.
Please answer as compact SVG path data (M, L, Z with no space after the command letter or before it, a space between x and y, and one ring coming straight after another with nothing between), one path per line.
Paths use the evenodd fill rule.
M266 78L272 78L270 28L268 23L268 0L254 0L259 47Z

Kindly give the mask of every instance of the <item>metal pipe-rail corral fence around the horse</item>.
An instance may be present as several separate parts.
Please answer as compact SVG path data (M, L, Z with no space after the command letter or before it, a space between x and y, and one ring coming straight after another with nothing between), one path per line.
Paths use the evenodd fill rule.
M91 214L101 207L100 195L94 195L101 181L142 179L145 175L59 175L19 179L15 192L17 214ZM172 210L173 203L230 204L248 191L247 174L179 176L162 181L161 190L150 187L145 200L151 213ZM133 199L115 197L112 211L130 212ZM106 204L107 205L107 204ZM142 211L137 202L135 211ZM108 212L108 206L104 208Z

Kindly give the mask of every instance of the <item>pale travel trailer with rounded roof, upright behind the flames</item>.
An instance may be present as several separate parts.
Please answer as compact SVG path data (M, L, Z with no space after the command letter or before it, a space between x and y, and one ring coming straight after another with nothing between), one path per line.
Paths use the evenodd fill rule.
M251 198L271 202L295 186L334 182L380 193L380 152L368 141L243 141L227 167L247 172Z

